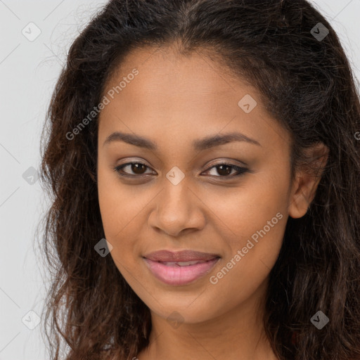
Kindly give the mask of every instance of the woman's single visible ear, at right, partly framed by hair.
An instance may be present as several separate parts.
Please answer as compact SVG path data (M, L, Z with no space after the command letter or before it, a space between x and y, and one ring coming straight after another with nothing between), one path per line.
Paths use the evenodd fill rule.
M328 152L328 147L323 143L317 143L315 146L304 150L304 155L308 159L307 165L295 171L295 179L289 199L290 217L297 219L307 213L328 162Z

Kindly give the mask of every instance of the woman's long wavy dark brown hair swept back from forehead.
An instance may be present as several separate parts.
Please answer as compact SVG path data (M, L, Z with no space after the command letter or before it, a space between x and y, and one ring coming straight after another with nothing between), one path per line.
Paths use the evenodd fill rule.
M360 356L360 102L333 27L305 0L112 0L70 47L43 131L41 179L52 202L43 243L52 275L45 308L51 359L62 358L63 341L67 360L129 360L148 345L150 310L112 257L94 250L105 234L98 122L89 113L131 49L175 41L183 53L210 49L259 90L292 134L293 174L307 165L306 148L323 142L330 149L307 214L286 224L264 324L280 359ZM319 310L330 320L321 330L310 321Z

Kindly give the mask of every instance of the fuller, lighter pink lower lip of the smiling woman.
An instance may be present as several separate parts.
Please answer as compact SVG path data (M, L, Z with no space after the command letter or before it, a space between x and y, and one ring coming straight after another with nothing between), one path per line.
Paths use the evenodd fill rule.
M207 262L200 262L199 264L188 266L170 266L144 258L146 265L155 278L158 278L168 285L186 285L192 283L207 274L219 259L220 258L217 257Z

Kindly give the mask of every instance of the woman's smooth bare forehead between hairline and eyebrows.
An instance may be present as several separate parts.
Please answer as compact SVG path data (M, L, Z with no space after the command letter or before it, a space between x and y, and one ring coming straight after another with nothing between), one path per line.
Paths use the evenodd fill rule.
M241 130L252 138L269 138L272 130L286 137L264 110L257 90L200 51L187 56L153 47L131 51L103 95L110 101L100 115L103 140L117 130L153 139L159 134L198 139L221 130ZM250 112L244 111L245 103Z

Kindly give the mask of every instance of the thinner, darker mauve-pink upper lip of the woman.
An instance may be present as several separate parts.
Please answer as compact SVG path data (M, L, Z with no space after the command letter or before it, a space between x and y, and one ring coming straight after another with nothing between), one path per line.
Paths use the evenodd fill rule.
M150 254L145 255L144 257L154 262L191 262L208 261L220 256L217 254L210 254L208 252L200 252L193 250L182 250L178 252L160 250L150 252Z

